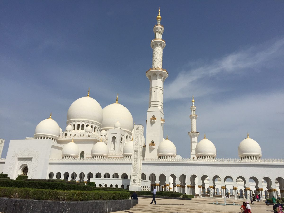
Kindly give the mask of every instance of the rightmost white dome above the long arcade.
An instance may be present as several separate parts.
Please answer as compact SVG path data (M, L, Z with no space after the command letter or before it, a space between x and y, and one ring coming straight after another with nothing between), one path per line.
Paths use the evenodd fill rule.
M253 139L249 138L242 140L238 147L239 158L242 157L256 157L261 158L261 148L260 145Z

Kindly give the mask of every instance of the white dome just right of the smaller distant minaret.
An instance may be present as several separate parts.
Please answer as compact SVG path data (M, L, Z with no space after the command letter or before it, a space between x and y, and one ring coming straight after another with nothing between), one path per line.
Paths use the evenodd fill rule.
M205 137L204 139L202 139L201 141L197 143L195 147L195 155L197 157L212 156L215 158L216 157L216 147L211 141L209 141Z

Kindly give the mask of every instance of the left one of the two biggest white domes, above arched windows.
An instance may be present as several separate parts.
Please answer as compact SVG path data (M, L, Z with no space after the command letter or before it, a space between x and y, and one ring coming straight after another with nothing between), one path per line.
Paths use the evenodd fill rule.
M91 97L79 98L71 104L67 112L67 124L73 120L85 120L102 124L102 107Z

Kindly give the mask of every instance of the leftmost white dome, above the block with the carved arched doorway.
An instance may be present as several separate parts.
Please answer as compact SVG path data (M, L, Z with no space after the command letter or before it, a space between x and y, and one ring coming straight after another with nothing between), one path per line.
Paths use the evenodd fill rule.
M58 139L59 134L60 129L56 121L52 118L47 118L37 124L34 137L51 137Z

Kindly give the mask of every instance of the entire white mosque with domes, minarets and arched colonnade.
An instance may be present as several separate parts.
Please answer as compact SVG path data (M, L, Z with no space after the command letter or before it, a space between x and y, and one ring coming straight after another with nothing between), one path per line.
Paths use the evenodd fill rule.
M162 67L166 42L162 39L160 9L156 19L151 41L153 63L146 72L150 82L146 139L143 126L133 124L130 111L119 103L118 96L115 103L102 108L89 89L87 96L69 107L64 131L50 114L36 126L33 137L11 140L7 158L0 160L0 172L11 179L26 174L28 178L94 181L98 187L129 189L135 171L137 181L133 183L143 191L156 186L158 191L212 198L250 199L254 193L261 199L284 197L284 160L262 159L260 146L249 134L239 144L239 158L233 159L216 158L216 148L206 135L198 142L194 97L189 115L190 156L177 155L170 138L163 138L168 72ZM141 140L135 133L139 128ZM138 139L140 147L134 142ZM140 151L134 150L135 146Z

